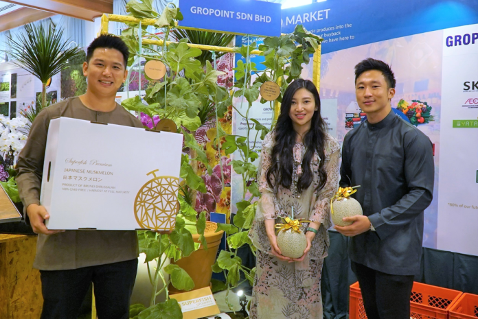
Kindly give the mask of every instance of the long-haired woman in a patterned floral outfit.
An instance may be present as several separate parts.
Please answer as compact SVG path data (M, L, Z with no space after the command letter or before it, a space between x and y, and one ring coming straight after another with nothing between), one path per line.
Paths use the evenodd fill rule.
M317 88L292 82L277 125L262 143L255 221L249 233L257 250L251 319L322 318L320 278L328 255L330 198L339 183L339 144L326 133ZM280 217L302 223L307 248L299 259L282 256L274 225Z

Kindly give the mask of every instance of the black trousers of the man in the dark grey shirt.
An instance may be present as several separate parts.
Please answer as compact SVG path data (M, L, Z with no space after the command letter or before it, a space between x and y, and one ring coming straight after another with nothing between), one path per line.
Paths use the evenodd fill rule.
M352 261L368 319L409 319L414 276L385 274Z

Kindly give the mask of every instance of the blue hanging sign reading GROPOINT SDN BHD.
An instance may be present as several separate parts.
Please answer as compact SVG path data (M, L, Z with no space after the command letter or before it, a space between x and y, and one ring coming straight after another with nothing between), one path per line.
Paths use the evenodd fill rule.
M280 3L253 0L180 0L182 27L280 36Z

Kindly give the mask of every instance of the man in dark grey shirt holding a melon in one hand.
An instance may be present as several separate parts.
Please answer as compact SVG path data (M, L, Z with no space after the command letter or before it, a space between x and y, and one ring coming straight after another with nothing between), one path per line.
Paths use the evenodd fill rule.
M363 215L335 226L350 237L352 270L369 319L409 319L413 276L422 256L423 215L433 197L432 144L391 110L395 78L368 58L355 67L358 106L367 119L345 135L341 187L361 185L352 196Z

